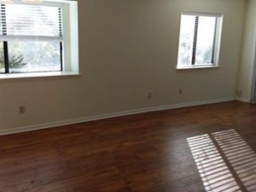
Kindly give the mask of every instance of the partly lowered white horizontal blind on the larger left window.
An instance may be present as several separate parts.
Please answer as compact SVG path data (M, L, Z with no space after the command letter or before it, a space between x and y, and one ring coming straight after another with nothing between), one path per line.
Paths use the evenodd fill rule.
M63 40L61 7L1 4L0 40Z

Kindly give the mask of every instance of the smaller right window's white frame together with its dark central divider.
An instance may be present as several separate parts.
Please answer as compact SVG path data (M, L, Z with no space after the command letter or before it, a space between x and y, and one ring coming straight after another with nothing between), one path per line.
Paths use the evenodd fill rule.
M181 33L182 33L182 16L183 15L191 15L191 16L197 16L198 18L200 16L205 16L205 17L215 17L216 18L216 28L215 28L215 34L214 34L214 44L212 44L213 49L212 49L212 64L195 64L195 53L196 53L196 45L197 43L197 33L198 29L195 29L196 24L195 24L195 32L194 32L194 42L193 42L193 48L192 48L192 59L191 59L191 64L189 65L183 65L180 63L180 45L182 42L181 38ZM179 27L179 36L178 36L178 46L177 46L177 69L192 69L192 68L216 68L219 67L219 53L220 53L220 48L221 48L221 38L222 38L222 28L223 28L223 20L224 20L224 15L223 14L215 14L215 13L202 13L202 12L182 12L180 15L180 27ZM195 22L196 23L196 22ZM213 55L214 54L214 55ZM193 62L194 61L194 62ZM193 64L194 63L194 64Z

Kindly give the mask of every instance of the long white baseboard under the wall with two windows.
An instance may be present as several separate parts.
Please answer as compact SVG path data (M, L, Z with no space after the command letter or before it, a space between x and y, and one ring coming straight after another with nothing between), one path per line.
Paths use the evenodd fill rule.
M6 129L6 130L0 130L0 136L26 132L26 131L48 129L48 128L57 127L61 125L72 125L72 124L84 123L84 122L100 120L100 119L109 119L109 118L137 114L137 113L148 113L148 112L162 111L162 110L173 109L173 108L187 108L187 107L193 107L193 106L213 104L218 102L231 102L231 101L236 101L236 98L226 97L226 98L212 99L212 100L206 100L201 102L185 102L185 103L172 104L172 105L159 106L159 107L140 108L140 109L117 112L117 113L106 113L106 114L100 114L100 115L89 116L89 117L78 118L78 119L61 120L61 121L56 121L56 122L51 122L51 123L46 123L41 125L29 125L29 126L23 126L23 127L15 127L15 128Z

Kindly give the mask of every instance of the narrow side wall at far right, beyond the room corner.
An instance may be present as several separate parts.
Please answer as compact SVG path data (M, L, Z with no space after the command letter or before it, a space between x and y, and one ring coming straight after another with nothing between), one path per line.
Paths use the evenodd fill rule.
M242 91L239 98L241 101L250 102L254 68L256 0L247 0L246 13L237 90Z

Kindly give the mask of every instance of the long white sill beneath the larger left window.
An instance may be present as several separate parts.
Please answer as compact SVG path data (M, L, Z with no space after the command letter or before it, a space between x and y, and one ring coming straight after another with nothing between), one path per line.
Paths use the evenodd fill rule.
M0 74L0 80L2 79L37 79L37 78L50 78L50 77L68 77L79 76L80 73L74 72L45 72L45 73L9 73Z

